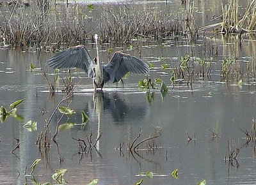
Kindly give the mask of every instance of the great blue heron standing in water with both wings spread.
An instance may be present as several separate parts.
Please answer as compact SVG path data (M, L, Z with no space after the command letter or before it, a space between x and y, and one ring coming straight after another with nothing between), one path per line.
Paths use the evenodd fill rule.
M83 69L88 77L93 78L95 91L97 88L102 90L104 83L109 80L113 83L120 81L128 72L148 74L147 63L124 52L115 52L109 63L102 66L99 61L98 35L95 34L94 38L97 52L97 57L94 60L92 60L84 45L77 45L52 56L48 59L49 65L53 68Z

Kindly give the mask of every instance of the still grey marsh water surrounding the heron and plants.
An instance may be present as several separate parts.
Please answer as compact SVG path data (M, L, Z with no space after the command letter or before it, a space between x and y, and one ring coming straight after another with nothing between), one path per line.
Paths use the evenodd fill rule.
M180 1L169 2L169 5L164 2L157 6L180 7ZM207 8L196 4L196 20L202 20L201 11L209 17L220 15L221 12L211 10L212 2L205 1ZM103 92L95 93L86 73L72 70L73 83L78 85L74 96L62 105L76 111L69 116L69 121L77 124L61 130L56 142L51 141L51 147L41 151L36 139L44 129L45 119L49 119L64 96L62 79L68 77L67 71L60 71L59 91L51 96L40 69L47 68L47 77L52 80L53 70L46 62L52 52L35 46L0 49L0 105L8 108L13 101L25 98L17 105L17 114L23 119L7 117L0 124L0 184L35 184L35 181L54 184L52 174L60 168L67 169L63 179L68 184L87 184L93 179L99 179L99 184L134 184L139 179L143 179L143 184L196 184L203 179L207 184L256 184L255 147L251 143L246 145L246 135L241 131L251 131L256 115L255 79L244 77L238 85L236 80L227 83L220 77L223 58L236 55L241 66L255 59L255 38L244 36L240 43L236 36L214 35L199 36L195 43L166 38L134 41L131 45L113 49L138 57L139 47L141 59L154 65L149 77L163 79L169 87L168 93L161 94L159 86L151 94L139 89L138 81L145 76L134 74L124 78L124 87L120 83L106 84ZM86 43L86 48L95 56L93 43ZM192 86L177 82L173 87L170 69L161 65L175 66L180 57L192 52L196 57L209 58L212 48L218 54L212 59L209 77L198 75ZM100 57L104 61L108 59L105 47L100 48ZM36 66L34 70L29 70L31 63ZM85 126L78 124L81 110L90 117ZM60 117L60 112L54 114L51 137ZM36 131L23 128L29 120L37 122ZM61 124L66 121L67 117L63 117ZM148 149L144 144L137 153L126 150L127 143L138 136L140 129L142 134L138 141L162 129L161 136L154 140L155 147ZM218 137L212 137L212 131L218 133ZM99 142L91 151L86 149L83 154L79 153L79 144L72 137L87 141L91 132L93 141L102 133ZM188 142L188 136L193 140ZM20 141L17 149L16 139ZM227 159L228 141L232 142L233 149L235 146L240 149L232 164ZM122 142L124 146L119 151L116 147ZM25 175L37 158L42 160L33 175ZM178 169L177 178L171 175L175 169ZM153 177L139 175L141 172L153 172Z

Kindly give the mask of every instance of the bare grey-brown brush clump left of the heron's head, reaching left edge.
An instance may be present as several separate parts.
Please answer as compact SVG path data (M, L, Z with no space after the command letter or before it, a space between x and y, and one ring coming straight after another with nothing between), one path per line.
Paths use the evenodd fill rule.
M87 26L92 22L86 6L52 6L49 0L31 1L23 6L19 1L6 5L0 14L0 36L10 45L44 46L51 43L84 41Z

